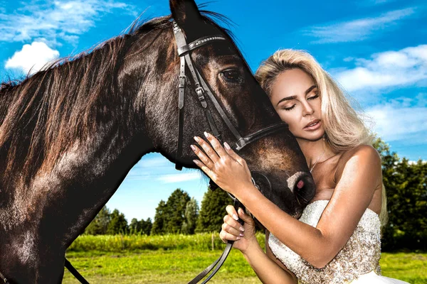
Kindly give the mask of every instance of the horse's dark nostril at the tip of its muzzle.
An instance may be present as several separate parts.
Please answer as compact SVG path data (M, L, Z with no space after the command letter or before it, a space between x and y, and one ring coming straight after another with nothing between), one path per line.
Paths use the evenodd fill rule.
M302 206L308 204L316 193L315 181L312 175L306 172L297 172L288 178L288 187Z

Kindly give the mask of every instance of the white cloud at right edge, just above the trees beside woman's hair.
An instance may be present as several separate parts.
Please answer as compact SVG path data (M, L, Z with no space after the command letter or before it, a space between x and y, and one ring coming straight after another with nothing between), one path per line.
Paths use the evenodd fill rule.
M427 107L420 106L418 97L391 99L366 112L375 121L373 130L384 141L401 141L406 145L427 143Z

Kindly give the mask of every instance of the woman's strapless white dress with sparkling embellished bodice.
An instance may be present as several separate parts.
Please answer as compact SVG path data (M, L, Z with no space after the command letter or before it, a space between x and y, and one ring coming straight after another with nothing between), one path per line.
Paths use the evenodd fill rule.
M317 200L308 204L300 221L317 226L328 202L329 200ZM268 238L268 245L274 255L295 273L301 284L404 284L404 281L381 276L380 227L378 214L368 208L347 244L324 268L315 268L273 234Z

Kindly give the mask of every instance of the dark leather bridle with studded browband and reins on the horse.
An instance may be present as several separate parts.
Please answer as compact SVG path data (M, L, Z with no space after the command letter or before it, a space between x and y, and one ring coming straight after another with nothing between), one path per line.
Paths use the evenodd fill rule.
M214 104L214 107L218 111L218 114L220 114L222 120L226 123L226 126L228 126L228 129L233 133L233 136L236 138L236 143L231 143L231 148L233 148L234 151L240 151L243 147L247 146L249 143L253 143L254 141L257 141L260 138L263 138L264 136L268 136L272 133L275 133L277 131L280 131L282 129L288 129L288 124L285 122L278 122L277 124L272 124L270 126L267 126L263 129L260 129L258 131L255 131L254 133L251 133L248 136L241 136L241 134L238 132L238 130L233 126L230 119L228 119L228 116L226 115L225 111L223 111L221 105L216 100L216 97L214 94L212 94L211 89L209 88L208 84L206 84L205 80L201 76L199 70L197 70L193 66L193 62L191 61L190 52L191 50L194 50L196 48L199 48L203 45L206 45L207 43L212 43L214 41L221 41L226 40L226 38L223 35L208 35L204 36L202 38L199 38L197 40L194 40L192 43L186 44L186 39L184 34L181 31L181 28L179 28L178 24L173 21L173 29L174 29L174 35L176 40L176 45L178 47L178 55L181 60L180 62L180 70L179 70L179 101L178 101L178 108L179 108L179 122L178 122L178 147L176 151L176 164L175 168L176 170L181 170L182 165L179 163L179 158L181 158L182 153L182 136L184 131L184 93L185 93L185 87L186 87L186 81L187 77L185 75L186 66L189 68L191 72L191 77L194 81L194 87L197 94L197 97L199 98L199 102L201 103L201 107L203 107L206 118L209 121L209 125L211 126L211 131L214 136L221 141L221 133L218 132L218 128L216 127L214 117L211 114L211 111L208 108L208 104L206 101L206 95L211 100L212 104ZM264 178L266 178L264 176ZM268 180L268 178L266 178ZM253 180L253 184L258 187L255 184L255 180ZM218 186L211 180L209 182L209 187L211 190L215 190L218 188ZM234 207L236 210L238 207L241 207L243 210L245 207L241 202L238 201L237 198L231 196L234 200ZM243 220L239 219L238 222L240 222L243 225ZM197 275L193 280L189 282L189 284L196 284L199 283L201 279L203 279L209 272L214 270L206 280L204 280L203 283L207 283L214 275L215 273L221 268L224 261L226 261L226 258L228 256L228 253L230 253L231 247L233 246L234 241L228 241L228 244L226 246L226 249L223 251L222 255L214 261L210 266L208 266L204 271L202 271L199 275ZM77 278L80 283L88 284L88 281L83 278L80 273L71 265L71 263L65 258L65 268L72 273L75 278ZM4 280L4 283L8 283L6 278L4 278L3 275L1 275L1 280ZM202 283L202 284L203 284Z

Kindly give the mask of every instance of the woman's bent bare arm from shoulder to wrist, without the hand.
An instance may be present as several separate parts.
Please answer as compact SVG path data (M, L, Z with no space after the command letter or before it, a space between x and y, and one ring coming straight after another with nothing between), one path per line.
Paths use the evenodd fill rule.
M344 166L334 194L315 227L283 212L258 190L236 197L292 251L324 267L347 243L381 179L381 159L370 146L358 148Z

